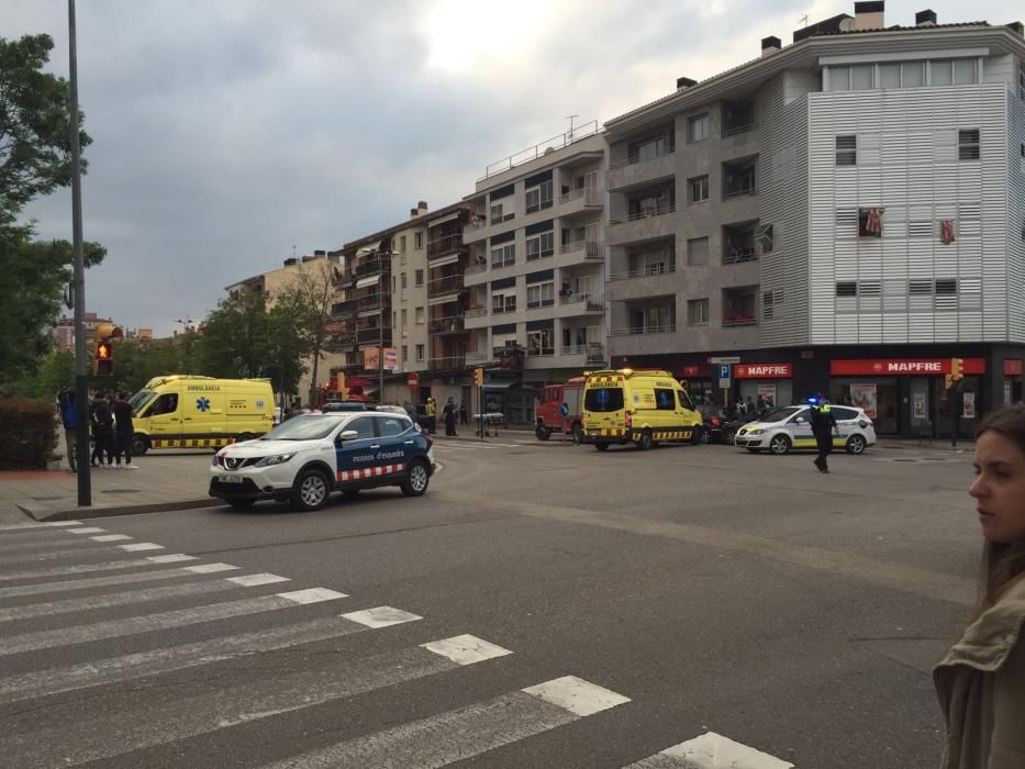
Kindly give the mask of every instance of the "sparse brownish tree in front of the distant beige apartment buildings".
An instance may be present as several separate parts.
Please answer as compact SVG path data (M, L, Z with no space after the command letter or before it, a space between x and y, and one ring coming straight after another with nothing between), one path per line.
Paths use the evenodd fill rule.
M294 320L293 333L309 350L312 367L309 402L316 402L316 381L324 353L336 347L331 333L331 317L337 291L334 286L335 264L314 259L299 266L292 282L277 297L275 307L287 308Z

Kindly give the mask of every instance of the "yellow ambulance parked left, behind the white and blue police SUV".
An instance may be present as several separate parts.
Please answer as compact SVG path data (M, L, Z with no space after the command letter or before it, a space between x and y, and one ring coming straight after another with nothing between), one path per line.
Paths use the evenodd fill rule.
M219 448L274 426L269 379L155 377L132 400L132 454L151 448Z

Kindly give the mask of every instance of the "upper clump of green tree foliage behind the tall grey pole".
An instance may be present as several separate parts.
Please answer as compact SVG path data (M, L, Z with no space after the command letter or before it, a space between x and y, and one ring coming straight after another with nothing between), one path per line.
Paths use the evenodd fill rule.
M53 47L49 35L0 37L0 227L33 198L71 181L70 88L43 71ZM92 140L80 131L78 141L85 148Z

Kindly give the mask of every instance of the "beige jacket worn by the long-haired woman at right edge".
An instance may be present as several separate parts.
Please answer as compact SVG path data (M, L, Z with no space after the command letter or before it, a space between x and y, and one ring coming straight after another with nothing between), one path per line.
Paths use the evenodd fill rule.
M1025 579L933 670L947 722L942 769L1025 768Z

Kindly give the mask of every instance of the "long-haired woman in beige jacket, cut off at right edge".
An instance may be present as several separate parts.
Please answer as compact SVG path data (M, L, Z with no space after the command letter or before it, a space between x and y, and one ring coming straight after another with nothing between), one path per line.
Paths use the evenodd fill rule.
M970 624L933 670L947 736L943 769L1025 767L1025 406L990 414L976 433L983 549Z

